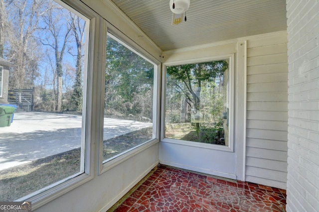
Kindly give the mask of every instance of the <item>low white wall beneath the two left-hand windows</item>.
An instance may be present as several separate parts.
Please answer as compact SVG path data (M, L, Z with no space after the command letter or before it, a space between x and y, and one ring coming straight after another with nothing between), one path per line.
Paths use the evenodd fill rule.
M156 144L36 212L106 212L159 163L158 152Z

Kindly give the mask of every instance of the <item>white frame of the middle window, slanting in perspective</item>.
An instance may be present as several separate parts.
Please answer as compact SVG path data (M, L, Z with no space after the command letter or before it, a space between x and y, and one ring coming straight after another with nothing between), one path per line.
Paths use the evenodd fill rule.
M112 169L113 167L123 163L124 161L132 158L134 155L139 154L140 152L150 148L151 146L157 144L160 141L160 130L159 130L159 117L160 117L160 69L161 69L161 62L153 57L150 53L148 53L145 49L139 46L137 43L132 41L129 37L127 37L124 33L116 29L113 25L106 22L106 27L104 27L104 34L105 39L103 40L104 52L102 58L106 58L106 38L107 33L112 34L112 38L116 38L117 40L121 41L121 44L129 48L134 53L138 54L139 56L143 57L144 59L148 60L150 63L154 64L154 88L153 88L153 138L149 141L146 141L143 144L136 146L134 149L124 151L119 155L116 155L108 160L103 161L103 119L102 119L102 133L100 134L101 140L99 145L99 175ZM104 60L105 67L106 61ZM103 73L103 86L101 89L103 90L103 95L101 99L104 100L104 92L105 92L105 70ZM104 108L104 101L102 101L103 108ZM104 114L102 112L102 114Z

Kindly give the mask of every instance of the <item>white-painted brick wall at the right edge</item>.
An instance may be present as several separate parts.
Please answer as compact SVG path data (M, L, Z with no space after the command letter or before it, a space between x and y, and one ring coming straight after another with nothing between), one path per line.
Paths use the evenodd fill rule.
M287 211L319 210L319 0L286 0Z

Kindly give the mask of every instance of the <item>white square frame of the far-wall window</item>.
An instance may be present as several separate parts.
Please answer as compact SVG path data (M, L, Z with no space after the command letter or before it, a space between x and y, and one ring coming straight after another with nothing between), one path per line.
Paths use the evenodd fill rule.
M200 59L192 59L192 60L179 60L173 61L169 63L163 63L162 68L162 90L161 90L161 123L160 123L160 142L173 143L179 145L186 146L194 146L205 149L214 149L220 151L233 152L234 151L234 54L213 56L213 57L205 57ZM208 61L217 61L217 60L229 60L228 68L229 68L229 114L228 114L228 138L229 144L228 146L222 146L217 144L207 144L186 140L177 140L172 138L165 138L165 94L166 94L166 67L167 66L177 66L184 64L193 64L193 63L203 63Z

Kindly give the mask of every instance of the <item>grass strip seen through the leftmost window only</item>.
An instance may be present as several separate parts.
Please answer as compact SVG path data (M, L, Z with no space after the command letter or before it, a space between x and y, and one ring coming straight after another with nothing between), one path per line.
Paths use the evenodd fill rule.
M80 171L80 148L0 171L0 201L14 201Z

